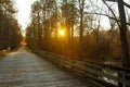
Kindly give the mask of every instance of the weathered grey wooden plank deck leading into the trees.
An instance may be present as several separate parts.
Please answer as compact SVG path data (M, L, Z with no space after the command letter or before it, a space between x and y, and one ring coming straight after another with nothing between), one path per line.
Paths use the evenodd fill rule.
M89 86L22 47L0 60L0 87Z

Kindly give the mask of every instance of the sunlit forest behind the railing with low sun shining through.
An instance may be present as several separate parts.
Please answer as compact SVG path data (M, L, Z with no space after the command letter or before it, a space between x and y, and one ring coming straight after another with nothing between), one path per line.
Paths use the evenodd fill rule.
M26 41L34 50L129 67L129 11L130 5L122 0L36 1ZM102 26L103 16L108 18L109 28Z

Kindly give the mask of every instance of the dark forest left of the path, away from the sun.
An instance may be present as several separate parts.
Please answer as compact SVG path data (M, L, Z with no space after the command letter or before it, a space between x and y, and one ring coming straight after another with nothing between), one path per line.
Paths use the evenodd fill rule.
M22 33L11 0L0 0L0 50L20 47Z

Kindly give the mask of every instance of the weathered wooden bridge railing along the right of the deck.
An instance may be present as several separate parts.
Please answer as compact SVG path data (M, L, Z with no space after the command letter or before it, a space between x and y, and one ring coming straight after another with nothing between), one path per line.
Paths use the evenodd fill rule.
M91 78L102 87L130 87L130 70L99 64L79 59L66 58L52 52L37 52L39 55L72 71L81 77Z

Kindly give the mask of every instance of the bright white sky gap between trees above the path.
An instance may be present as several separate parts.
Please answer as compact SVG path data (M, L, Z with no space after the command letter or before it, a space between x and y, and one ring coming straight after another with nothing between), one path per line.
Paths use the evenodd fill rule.
M17 9L16 18L22 26L22 29L25 30L27 24L30 22L30 11L31 4L37 0L14 0L14 7Z

